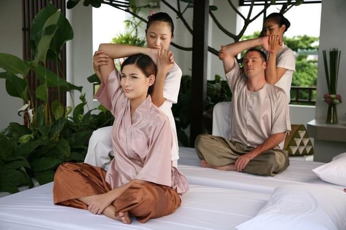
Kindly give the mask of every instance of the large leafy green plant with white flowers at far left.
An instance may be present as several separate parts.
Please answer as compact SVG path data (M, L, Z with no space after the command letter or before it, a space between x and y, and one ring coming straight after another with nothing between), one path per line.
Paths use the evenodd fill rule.
M17 192L17 186L33 187L33 178L40 184L53 180L54 172L62 162L84 160L88 140L98 127L112 124L113 117L99 107L99 114L92 110L84 113L84 94L81 103L72 112L64 108L60 100L48 105L48 88L58 91L81 91L45 67L47 59L61 61L61 49L66 41L73 38L73 30L60 10L48 4L33 20L31 49L33 60L21 60L11 54L0 53L0 67L6 72L0 78L6 79L6 91L21 98L23 112L30 117L27 126L10 123L0 132L0 191ZM43 104L33 105L26 76L34 71L41 85L35 95ZM60 93L59 93L60 94ZM71 116L69 116L71 114Z

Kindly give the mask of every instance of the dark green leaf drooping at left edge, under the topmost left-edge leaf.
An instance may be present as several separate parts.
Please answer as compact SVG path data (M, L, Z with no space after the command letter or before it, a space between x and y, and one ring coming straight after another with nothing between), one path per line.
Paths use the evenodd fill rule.
M11 96L22 98L26 101L27 83L24 79L10 72L0 73L0 78L6 79L6 91Z

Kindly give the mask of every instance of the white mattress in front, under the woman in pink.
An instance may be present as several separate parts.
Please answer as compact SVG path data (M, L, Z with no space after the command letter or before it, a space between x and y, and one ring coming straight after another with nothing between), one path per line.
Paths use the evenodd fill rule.
M174 213L130 225L88 210L53 205L53 183L0 198L0 229L234 229L267 203L269 194L190 185Z

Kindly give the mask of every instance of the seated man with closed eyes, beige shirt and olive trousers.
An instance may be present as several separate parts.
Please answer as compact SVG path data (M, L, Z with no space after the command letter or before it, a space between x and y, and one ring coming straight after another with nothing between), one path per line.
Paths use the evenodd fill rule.
M289 107L285 92L266 81L263 51L248 50L240 69L235 56L244 49L237 42L219 53L233 94L230 140L199 135L195 149L202 167L274 176L289 166L281 150L291 129Z

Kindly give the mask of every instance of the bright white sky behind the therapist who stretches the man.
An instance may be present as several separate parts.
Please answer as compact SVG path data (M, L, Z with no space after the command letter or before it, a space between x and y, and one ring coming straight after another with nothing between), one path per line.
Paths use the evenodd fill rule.
M294 6L287 11L284 16L291 22L291 27L285 32L285 36L293 37L296 35L308 35L319 37L320 36L320 24L321 24L321 6L322 4L301 4ZM281 8L281 5L278 5ZM260 12L263 6L256 6L252 10L251 18ZM240 12L243 15L247 15L249 7L240 7ZM267 10L267 15L273 12L278 12L276 6L270 6ZM238 21L241 22L241 27L244 25L244 21L239 17ZM252 35L254 31L262 29L263 16L258 17L255 21L251 22L245 31L245 35ZM240 30L240 29L239 29Z

